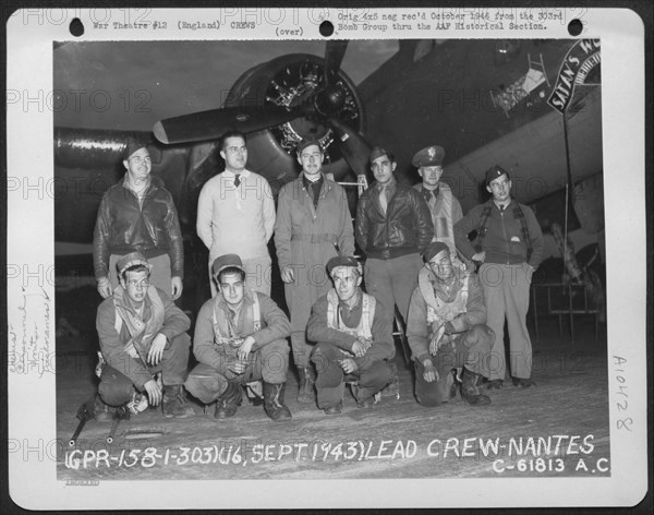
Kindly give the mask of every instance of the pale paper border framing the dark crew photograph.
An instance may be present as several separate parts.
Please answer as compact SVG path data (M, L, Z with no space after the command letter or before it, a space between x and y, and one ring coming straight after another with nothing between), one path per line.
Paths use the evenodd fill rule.
M440 8L440 10L449 8ZM475 8L476 9L476 8ZM513 10L516 8L512 8ZM421 8L429 11L428 8ZM299 495L315 481L258 480L256 495L247 481L184 481L183 489L170 488L169 481L104 481L96 488L66 487L58 481L56 463L39 459L39 453L9 454L9 486L15 503L29 510L87 508L211 508L217 507L447 507L447 506L596 506L633 505L647 490L647 391L646 391L646 287L641 274L646 262L645 233L645 141L644 119L644 26L642 20L626 9L564 9L568 20L583 21L580 38L602 41L602 109L604 145L604 194L606 204L606 263L608 299L608 391L610 407L611 476L607 478L529 478L529 479L379 479L329 480L328 489L314 489L311 498ZM109 19L120 20L125 10L104 10ZM170 28L159 32L137 29L96 31L90 10L16 11L8 21L8 89L17 92L52 89L52 44L73 40L69 24L78 17L85 34L77 40L204 39L202 31L192 33L174 28L183 17L179 10L133 10L137 17L168 21ZM220 20L226 12L202 10L202 17ZM338 9L289 9L289 25L302 27L295 39L319 39L322 20L336 21ZM411 9L402 9L411 11ZM195 11L199 13L199 10ZM281 11L283 12L283 11ZM95 15L99 15L95 13ZM257 28L257 39L279 39L280 24L265 23ZM407 33L384 34L349 31L332 38L397 39ZM566 38L567 24L548 24L537 34L530 31L465 32L468 38ZM414 37L424 37L415 33ZM462 37L444 31L443 38ZM216 32L211 38L243 38L241 32ZM629 77L629 89L625 89ZM52 111L22 109L8 105L8 177L26 173L38 178L53 176ZM11 184L10 184L11 185ZM53 260L53 217L50 197L24 197L8 191L8 263L19 268L8 272L9 322L15 320L25 299L24 271L46 271ZM626 200L629 209L625 208ZM43 294L55 298L55 287L47 282ZM24 304L23 304L24 306ZM49 334L55 334L53 304L49 312L34 313L48 319ZM618 322L619 321L619 322ZM628 333L625 327L629 327ZM11 344L11 343L10 343ZM617 360L616 357L620 357ZM10 362L15 356L10 356ZM46 358L47 359L47 358ZM10 443L19 446L48 442L56 438L55 374L9 373ZM622 387L622 388L621 388ZM627 390L625 390L625 387ZM625 402L623 393L628 393ZM29 406L28 409L25 407ZM628 421L628 422L627 422ZM461 495L461 481L474 484ZM362 486L368 492L361 495ZM38 487L38 491L35 491ZM98 490L99 489L99 490ZM332 495L338 490L339 495ZM152 493L156 492L156 495ZM518 493L519 492L519 493ZM193 504L192 506L190 504ZM276 503L271 505L271 503Z

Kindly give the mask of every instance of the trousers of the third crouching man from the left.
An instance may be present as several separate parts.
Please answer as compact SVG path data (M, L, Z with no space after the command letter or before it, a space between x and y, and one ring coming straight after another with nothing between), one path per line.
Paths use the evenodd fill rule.
M346 374L339 360L351 356L347 356L332 344L319 343L315 346L311 360L318 374L316 379L318 408L326 409L340 403L346 391L346 382L355 381L359 384L358 400L372 397L392 382L393 372L388 362L366 356L353 358L358 370Z

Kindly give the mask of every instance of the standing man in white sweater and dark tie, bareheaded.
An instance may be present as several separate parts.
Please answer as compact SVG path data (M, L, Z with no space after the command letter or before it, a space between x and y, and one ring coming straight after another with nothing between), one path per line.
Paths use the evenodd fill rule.
M209 179L197 202L197 236L209 249L210 264L223 254L239 254L247 286L270 295L268 241L275 227L275 202L268 181L245 168L245 136L237 131L223 134L220 155L225 171ZM211 278L211 297L216 285Z

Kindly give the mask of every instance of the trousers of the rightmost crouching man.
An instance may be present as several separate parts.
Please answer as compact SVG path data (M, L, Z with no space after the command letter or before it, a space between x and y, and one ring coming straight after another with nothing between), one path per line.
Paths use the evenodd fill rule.
M452 369L465 367L471 372L487 378L494 339L495 334L487 325L477 324L465 333L456 335L450 343L443 344L436 356L429 357L438 372L438 380L431 383L424 379L424 366L415 360L415 397L419 404L438 406L448 400Z

